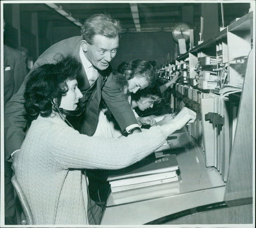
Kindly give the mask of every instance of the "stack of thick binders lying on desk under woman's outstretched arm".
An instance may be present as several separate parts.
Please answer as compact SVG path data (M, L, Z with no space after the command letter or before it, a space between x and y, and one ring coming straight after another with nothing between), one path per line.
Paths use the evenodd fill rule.
M111 192L119 193L179 181L178 169L176 155L158 159L150 155L129 167L111 171L107 181Z

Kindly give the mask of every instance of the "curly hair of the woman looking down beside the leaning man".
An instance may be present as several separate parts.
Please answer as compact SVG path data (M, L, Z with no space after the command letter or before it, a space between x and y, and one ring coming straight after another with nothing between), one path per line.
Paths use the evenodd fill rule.
M136 59L129 63L122 62L117 69L127 80L136 76L137 78L146 78L149 83L148 87L150 88L156 84L156 75L153 66L148 61Z

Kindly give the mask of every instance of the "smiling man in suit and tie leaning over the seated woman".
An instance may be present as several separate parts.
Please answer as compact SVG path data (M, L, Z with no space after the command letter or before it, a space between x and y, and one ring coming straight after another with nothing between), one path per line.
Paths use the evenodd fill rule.
M110 61L116 56L121 30L120 22L112 19L110 15L92 15L84 23L81 30L82 37L71 37L52 45L37 59L30 71L45 63L55 62L58 58L56 54L69 53L78 57L83 65L83 76L77 78L78 87L83 94L80 103L83 111L78 119L72 118L69 121L80 133L91 136L95 132L101 98L108 105L123 131L126 130L129 133L140 130L134 131L137 127L139 128L139 125L129 102L114 80L110 65ZM15 156L19 153L27 128L26 111L23 106L25 82L26 79L5 109L6 158L12 161L14 170ZM97 210L95 214L98 216L99 212L100 210ZM91 222L89 220L89 223L93 224L92 220Z

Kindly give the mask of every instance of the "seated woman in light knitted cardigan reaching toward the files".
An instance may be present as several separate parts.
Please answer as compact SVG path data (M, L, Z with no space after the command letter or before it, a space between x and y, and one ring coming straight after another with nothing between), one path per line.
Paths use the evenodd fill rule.
M24 105L32 123L17 155L15 175L35 224L88 224L83 169L120 169L136 163L196 118L184 108L166 125L119 140L80 134L66 122L68 115L80 113L80 72L81 64L68 56L39 66L26 82Z

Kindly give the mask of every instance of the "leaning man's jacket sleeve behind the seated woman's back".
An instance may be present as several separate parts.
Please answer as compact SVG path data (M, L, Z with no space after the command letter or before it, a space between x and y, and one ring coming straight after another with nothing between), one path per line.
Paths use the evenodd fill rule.
M36 61L31 69L33 71L39 65L46 63L46 60L41 59ZM4 112L4 144L6 150L6 160L12 161L11 154L15 150L20 149L25 138L25 129L27 127L26 110L24 108L24 91L25 83L28 79L25 77L20 89L12 96L10 101L5 106Z

